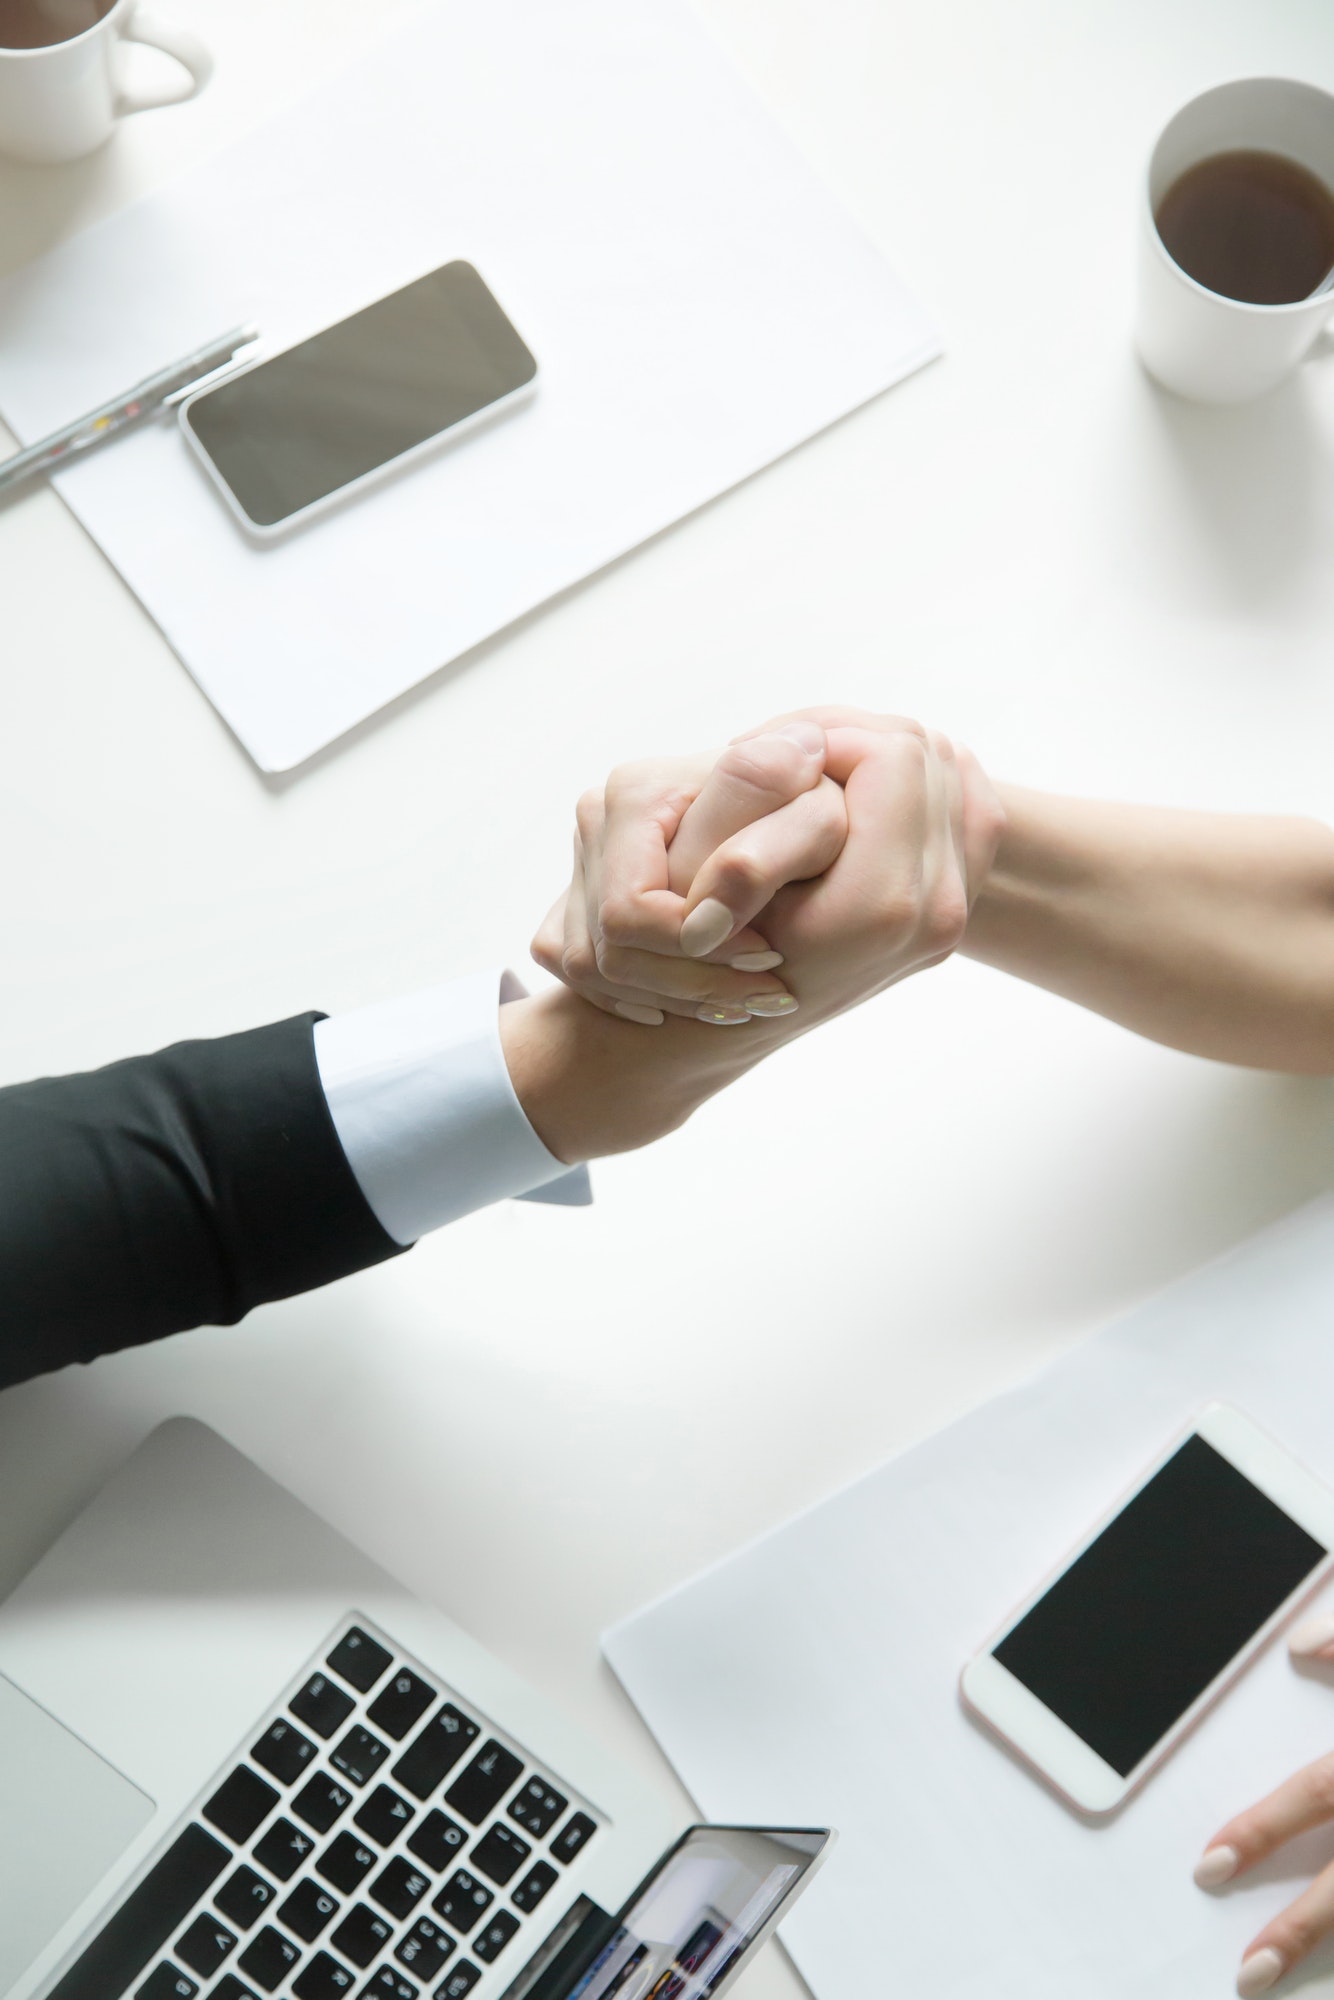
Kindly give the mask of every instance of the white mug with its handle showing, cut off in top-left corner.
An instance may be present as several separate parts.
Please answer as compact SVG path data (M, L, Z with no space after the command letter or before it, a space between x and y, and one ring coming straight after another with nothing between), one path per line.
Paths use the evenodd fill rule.
M52 0L52 22L60 4ZM82 16L66 12L66 18ZM120 84L120 42L146 42L184 68L174 88L126 92ZM62 42L40 48L0 48L0 152L12 160L78 160L104 146L126 112L184 104L212 74L198 36L158 20L138 0L114 0L100 20Z

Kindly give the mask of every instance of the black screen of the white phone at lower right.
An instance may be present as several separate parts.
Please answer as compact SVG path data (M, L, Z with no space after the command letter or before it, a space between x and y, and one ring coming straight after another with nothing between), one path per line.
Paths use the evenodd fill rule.
M1326 1554L1194 1436L992 1656L1126 1778Z

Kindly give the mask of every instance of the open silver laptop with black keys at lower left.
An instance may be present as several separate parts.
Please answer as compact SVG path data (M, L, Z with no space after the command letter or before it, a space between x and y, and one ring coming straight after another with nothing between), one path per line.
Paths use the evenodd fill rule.
M0 1604L0 2000L720 2000L830 1840L676 1824L192 1418Z

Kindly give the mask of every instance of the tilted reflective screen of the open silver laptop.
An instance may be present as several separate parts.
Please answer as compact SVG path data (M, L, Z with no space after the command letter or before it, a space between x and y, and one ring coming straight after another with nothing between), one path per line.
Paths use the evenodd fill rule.
M506 2000L722 2000L832 1844L828 1826L690 1826L618 1916L580 1926L570 1962L530 1966Z

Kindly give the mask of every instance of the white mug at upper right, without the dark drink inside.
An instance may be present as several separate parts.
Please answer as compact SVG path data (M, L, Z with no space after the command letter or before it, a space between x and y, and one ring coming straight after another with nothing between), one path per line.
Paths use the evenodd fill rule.
M1140 216L1136 346L1164 388L1194 402L1248 402L1276 388L1334 314L1332 296L1250 306L1196 284L1158 234L1154 214L1186 168L1216 152L1280 152L1334 194L1334 98L1314 84L1254 76L1192 98L1148 160Z

